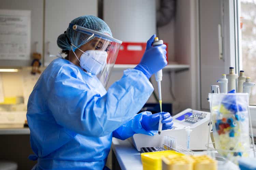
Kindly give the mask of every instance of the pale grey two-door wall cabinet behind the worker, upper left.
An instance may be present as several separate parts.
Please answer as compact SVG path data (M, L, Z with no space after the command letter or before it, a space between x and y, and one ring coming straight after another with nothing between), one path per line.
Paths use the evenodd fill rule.
M36 51L44 56L41 60L45 66L51 63L60 48L57 37L68 28L69 22L79 16L97 16L98 1L96 0L0 0L0 9L31 10L31 48L30 60L0 60L0 67L30 66L32 53ZM44 48L43 48L44 46Z

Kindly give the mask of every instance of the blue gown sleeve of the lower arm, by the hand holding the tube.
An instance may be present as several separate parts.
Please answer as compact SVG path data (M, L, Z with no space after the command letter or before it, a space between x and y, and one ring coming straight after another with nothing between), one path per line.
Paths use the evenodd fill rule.
M112 134L113 137L121 140L125 140L131 137L134 134L141 133L144 135L154 136L154 132L156 131L146 131L142 128L141 121L143 115L151 115L151 112L142 112L136 116L134 116L127 123L120 126L116 129Z

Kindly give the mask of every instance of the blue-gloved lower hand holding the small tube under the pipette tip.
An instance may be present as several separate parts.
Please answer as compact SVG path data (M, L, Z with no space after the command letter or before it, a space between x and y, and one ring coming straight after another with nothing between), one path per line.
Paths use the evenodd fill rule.
M141 120L141 125L143 129L146 131L157 131L159 125L161 113L156 113L152 115L143 115ZM172 129L172 117L168 112L162 112L163 120L162 120L162 130Z

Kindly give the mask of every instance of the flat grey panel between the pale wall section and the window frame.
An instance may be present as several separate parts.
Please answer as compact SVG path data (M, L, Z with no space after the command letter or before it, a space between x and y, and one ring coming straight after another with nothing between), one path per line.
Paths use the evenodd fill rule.
M225 63L219 60L218 24L221 24L221 1L200 1L201 108L209 109L207 100L211 85L225 73Z

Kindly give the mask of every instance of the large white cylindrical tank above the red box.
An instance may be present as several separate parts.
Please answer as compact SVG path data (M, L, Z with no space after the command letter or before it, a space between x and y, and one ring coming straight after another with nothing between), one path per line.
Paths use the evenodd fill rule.
M155 0L104 0L103 19L114 38L146 42L156 33Z

